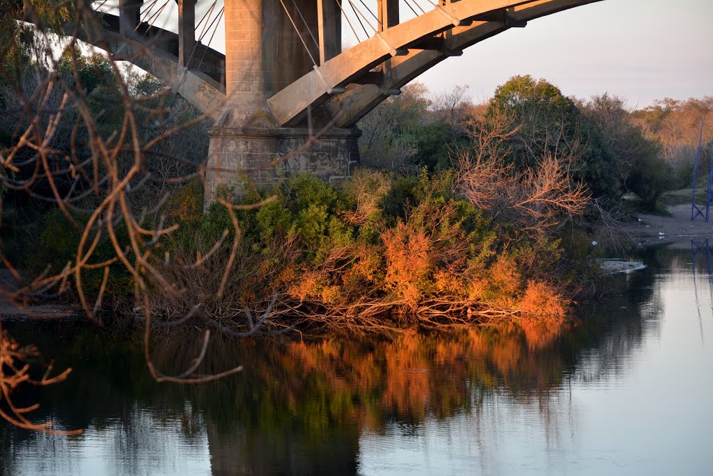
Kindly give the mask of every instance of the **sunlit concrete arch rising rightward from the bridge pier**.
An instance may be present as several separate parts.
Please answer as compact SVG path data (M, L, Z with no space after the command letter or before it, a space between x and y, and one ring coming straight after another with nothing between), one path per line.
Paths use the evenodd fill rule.
M338 118L340 126L354 125L356 120L388 97L386 90L403 86L451 56L453 51L461 51L511 26L518 26L520 21L595 1L601 0L461 0L437 6L433 11L376 33L321 67L315 66L314 71L273 95L267 103L280 125L297 125L308 108L325 101L328 101L327 110ZM443 41L441 51L414 49L403 58L396 56L404 48L419 48L419 43L443 31L451 31L452 34ZM389 58L392 58L391 71L394 73L385 76L384 83L357 87L359 90L356 92L330 99L335 89L358 82L360 76ZM343 113L342 110L348 112Z

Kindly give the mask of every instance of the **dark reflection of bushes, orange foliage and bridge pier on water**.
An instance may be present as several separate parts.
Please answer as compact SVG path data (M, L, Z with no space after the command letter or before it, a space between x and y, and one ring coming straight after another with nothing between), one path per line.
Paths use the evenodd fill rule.
M615 376L643 334L655 331L645 321L661 306L652 293L657 269L677 266L677 257L657 253L645 257L653 266L614 278L627 291L581 309L575 323L523 319L395 341L216 338L202 370L242 363L245 371L202 386L152 381L138 336L78 323L14 323L17 338L36 343L58 368L74 369L66 383L19 396L41 403L36 420L87 431L62 439L0 422L0 474L28 468L23 458L31 455L37 472L61 472L83 447L97 446L93 454L124 474L172 472L169 460L190 458L185 449L196 447L207 447L216 475L350 474L361 435L389 425L408 431L429 418L477 418L503 395L535 405L547 420L554 393L572 381ZM167 373L185 368L199 341L160 338L155 361Z

